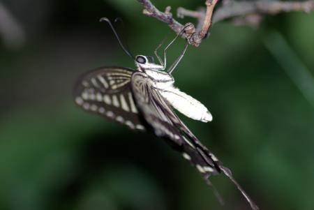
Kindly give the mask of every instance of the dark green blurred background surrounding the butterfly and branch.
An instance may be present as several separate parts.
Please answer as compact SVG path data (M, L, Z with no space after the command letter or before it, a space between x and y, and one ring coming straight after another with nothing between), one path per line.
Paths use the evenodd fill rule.
M24 39L0 43L0 209L250 209L225 177L200 174L152 134L80 110L76 78L126 66L110 27L134 54L152 55L174 33L128 0L1 1ZM202 1L154 1L195 9ZM175 13L175 12L174 12ZM194 21L186 18L182 23ZM269 16L258 27L220 22L174 71L211 123L181 118L232 169L261 209L314 209L314 13ZM184 47L168 53L174 61Z

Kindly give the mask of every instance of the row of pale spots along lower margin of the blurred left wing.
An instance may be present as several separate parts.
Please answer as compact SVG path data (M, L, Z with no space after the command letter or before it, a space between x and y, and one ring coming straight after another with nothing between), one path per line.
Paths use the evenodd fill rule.
M115 119L119 123L124 123L124 124L126 124L126 126L132 128L132 129L136 128L138 130L145 130L144 126L142 126L141 124L135 125L133 122L125 120L121 116L115 117L114 112L112 112L112 111L107 111L106 112L104 107L97 107L97 105L89 104L87 102L84 102L84 100L81 97L75 98L75 102L77 103L77 105L82 106L84 108L84 110L91 110L93 112L99 112L100 114L105 114L107 117L109 117L111 119Z

